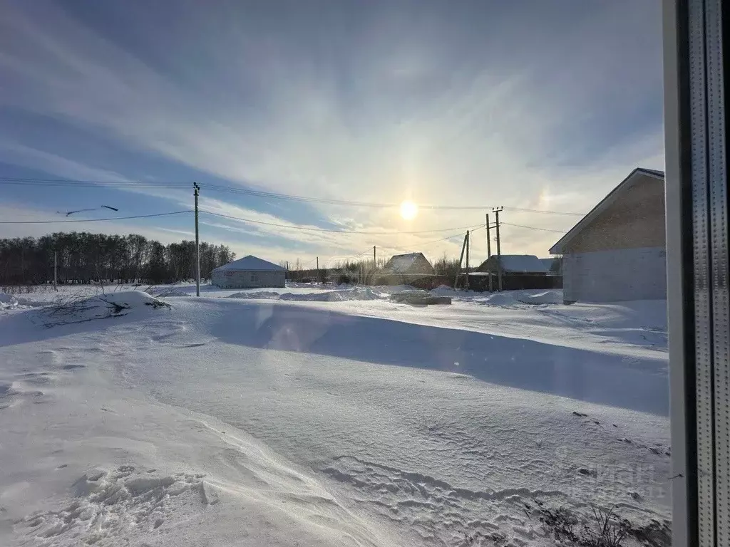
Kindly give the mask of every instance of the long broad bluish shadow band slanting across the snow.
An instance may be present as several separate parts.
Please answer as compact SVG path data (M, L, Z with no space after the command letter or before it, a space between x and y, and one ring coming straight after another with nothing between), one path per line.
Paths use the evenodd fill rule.
M241 303L212 331L261 349L469 374L493 384L666 415L666 361L283 304Z

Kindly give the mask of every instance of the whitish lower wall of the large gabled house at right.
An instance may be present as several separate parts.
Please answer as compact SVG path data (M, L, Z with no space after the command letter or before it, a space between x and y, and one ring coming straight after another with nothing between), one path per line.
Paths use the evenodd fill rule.
M666 298L664 247L581 252L563 257L566 302Z

